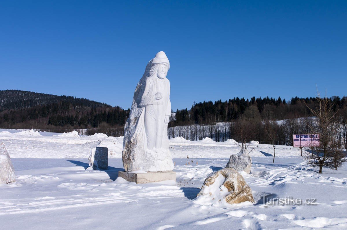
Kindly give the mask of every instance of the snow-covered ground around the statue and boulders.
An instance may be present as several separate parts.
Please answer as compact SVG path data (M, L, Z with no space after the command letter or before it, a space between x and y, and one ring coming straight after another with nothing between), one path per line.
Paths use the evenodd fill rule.
M0 229L347 229L347 166L318 174L292 147L278 146L272 163L271 145L252 143L252 171L242 175L255 203L230 205L194 198L239 151L233 141L171 139L177 183L150 184L117 178L122 138L0 130L0 142L17 180L0 185ZM108 170L86 170L97 144L109 148ZM303 204L264 203L276 197Z

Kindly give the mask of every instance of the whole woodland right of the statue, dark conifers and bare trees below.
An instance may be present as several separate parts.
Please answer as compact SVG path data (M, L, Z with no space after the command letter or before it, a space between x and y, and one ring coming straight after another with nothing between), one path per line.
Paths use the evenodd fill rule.
M344 148L347 148L346 99L346 97L342 99L339 97L326 98L331 104L331 111L335 113L336 117L333 130L336 132L339 145ZM260 111L257 100L261 102L259 98L253 98L251 101L235 99L224 103L221 101L212 103L210 101L208 103L198 103L191 110L177 110L176 114L171 117L168 136L169 138L182 136L186 140L193 141L209 137L215 141L234 139L239 143L248 143L254 140L264 144L293 145L293 134L312 132L312 127L316 122L315 114L312 111L315 111L314 109L319 107L321 103L319 98L296 97L292 98L290 103L283 103L280 98L277 102L274 99L268 100L265 98L264 101L268 101L270 104L265 103L263 110ZM252 101L254 101L253 104ZM235 119L230 121L223 121L222 119L218 121L220 115L218 108L230 106L231 104L232 107L240 106L245 108L243 113L240 112ZM204 119L213 117L212 122L207 122L204 119L200 122L196 121L194 113L198 109L205 111ZM280 111L280 113L276 111ZM281 120L279 117L285 119ZM271 131L269 131L270 128ZM272 135L271 138L269 138L269 133Z

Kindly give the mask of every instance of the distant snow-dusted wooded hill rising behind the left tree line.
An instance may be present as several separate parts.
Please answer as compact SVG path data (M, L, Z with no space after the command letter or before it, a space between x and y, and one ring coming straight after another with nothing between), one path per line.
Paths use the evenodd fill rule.
M71 103L72 105L86 106L91 108L110 106L105 103L100 103L85 98L76 98L73 96L57 96L23 90L0 90L0 112L4 110L26 109L34 106L61 103L63 101Z

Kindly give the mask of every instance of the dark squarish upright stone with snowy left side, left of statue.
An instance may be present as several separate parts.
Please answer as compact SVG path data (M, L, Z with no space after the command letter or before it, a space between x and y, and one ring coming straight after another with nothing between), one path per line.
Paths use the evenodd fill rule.
M93 148L88 160L90 169L108 169L108 148Z

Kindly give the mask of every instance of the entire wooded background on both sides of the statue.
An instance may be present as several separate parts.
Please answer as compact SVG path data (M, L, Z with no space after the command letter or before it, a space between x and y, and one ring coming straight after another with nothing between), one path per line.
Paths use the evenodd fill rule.
M328 98L336 113L341 138L347 139L347 97ZM177 109L169 122L169 138L183 136L187 140L209 137L215 141L235 139L268 143L266 121L281 121L272 132L278 133L277 144L291 144L291 134L306 133L312 124L310 108L317 98L234 97L226 101L194 103L191 109ZM0 91L0 128L39 129L91 135L105 133L124 135L124 124L130 110L112 107L84 98L56 96L21 90ZM297 118L303 118L297 119ZM246 133L246 134L240 134ZM343 141L341 141L343 142ZM344 141L346 143L346 140ZM346 143L347 144L347 143Z

